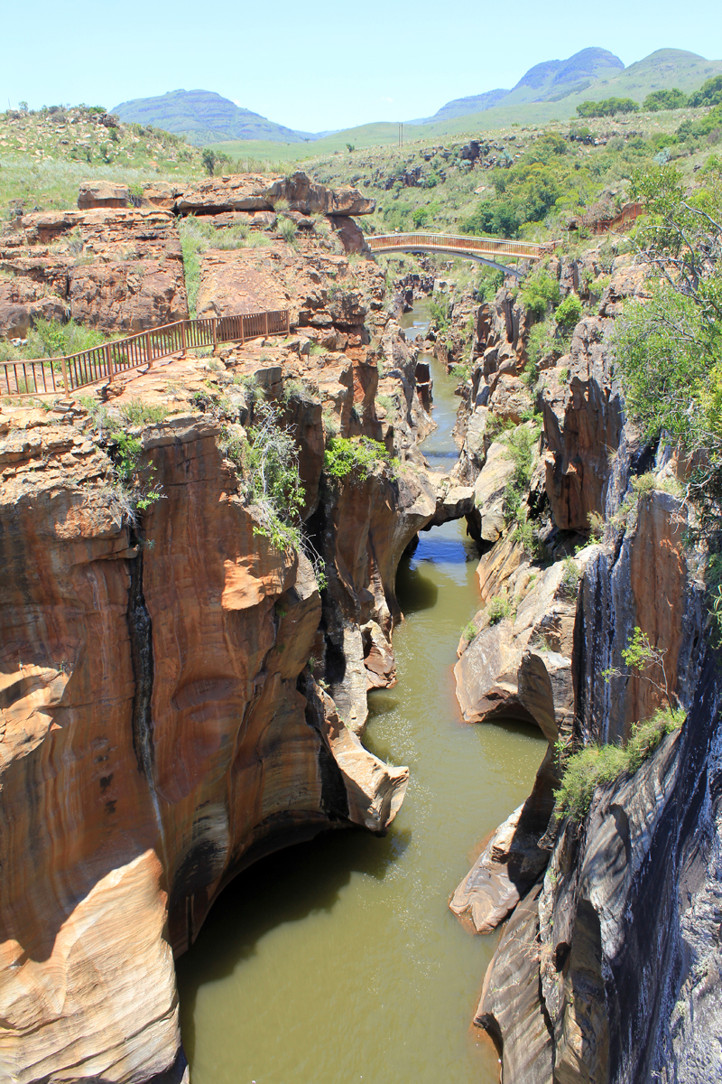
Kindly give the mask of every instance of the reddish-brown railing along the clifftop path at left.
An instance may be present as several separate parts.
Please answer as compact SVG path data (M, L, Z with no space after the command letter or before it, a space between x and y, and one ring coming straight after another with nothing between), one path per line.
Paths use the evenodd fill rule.
M66 358L39 358L36 361L0 362L0 395L53 395L66 397L78 388L113 379L142 365L181 353L194 347L219 343L246 343L266 335L288 335L288 309L245 312L236 317L211 317L208 320L176 320L124 339L103 343Z

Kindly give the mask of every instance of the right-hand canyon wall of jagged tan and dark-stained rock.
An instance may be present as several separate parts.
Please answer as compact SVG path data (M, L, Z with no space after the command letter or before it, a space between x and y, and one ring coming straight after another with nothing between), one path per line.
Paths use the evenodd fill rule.
M468 721L533 722L549 749L450 906L481 933L511 916L475 1016L503 1081L713 1080L721 687L704 563L687 540L681 468L640 441L614 375L614 320L623 298L645 296L642 270L591 253L551 271L591 311L570 339L547 345L536 379L521 298L504 287L477 313L458 474L476 495L482 608L456 668ZM511 518L520 460L502 423L534 436ZM580 821L557 816L569 751L627 741L666 704L644 674L626 673L636 625L664 651L686 722L634 774L599 787Z

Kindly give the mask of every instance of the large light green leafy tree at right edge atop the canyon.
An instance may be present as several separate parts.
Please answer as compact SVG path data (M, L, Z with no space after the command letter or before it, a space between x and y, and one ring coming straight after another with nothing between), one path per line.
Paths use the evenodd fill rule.
M695 456L686 486L700 532L722 535L722 176L712 170L687 197L670 166L634 176L647 219L636 243L651 298L629 301L616 321L615 350L631 417L649 441L665 434Z

